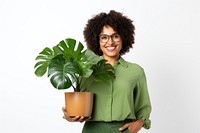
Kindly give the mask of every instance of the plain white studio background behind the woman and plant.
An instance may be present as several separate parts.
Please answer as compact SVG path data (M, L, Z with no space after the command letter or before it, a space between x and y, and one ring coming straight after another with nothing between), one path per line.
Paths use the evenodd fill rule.
M34 75L34 59L67 37L84 43L87 20L114 9L134 20L136 43L124 58L148 78L152 128L141 133L199 133L199 7L198 0L0 0L0 132L81 132L82 123L62 119L64 91Z

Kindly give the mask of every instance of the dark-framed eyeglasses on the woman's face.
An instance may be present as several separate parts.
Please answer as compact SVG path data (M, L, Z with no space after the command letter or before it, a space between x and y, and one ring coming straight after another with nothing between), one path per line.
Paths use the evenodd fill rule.
M120 35L118 33L114 33L112 35L106 35L106 34L99 35L99 40L102 43L107 43L108 40L110 39L110 37L111 37L113 42L120 41Z

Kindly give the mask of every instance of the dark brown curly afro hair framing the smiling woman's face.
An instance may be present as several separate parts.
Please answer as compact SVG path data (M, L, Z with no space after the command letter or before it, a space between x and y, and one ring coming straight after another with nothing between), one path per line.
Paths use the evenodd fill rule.
M108 14L99 13L93 18L89 19L84 31L84 39L87 47L97 55L102 55L99 44L99 34L101 33L104 26L111 26L122 38L122 49L120 55L129 52L135 42L135 26L133 21L128 17L124 16L120 12L111 10Z

